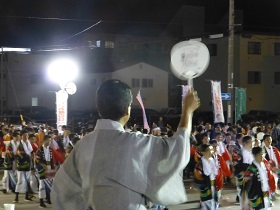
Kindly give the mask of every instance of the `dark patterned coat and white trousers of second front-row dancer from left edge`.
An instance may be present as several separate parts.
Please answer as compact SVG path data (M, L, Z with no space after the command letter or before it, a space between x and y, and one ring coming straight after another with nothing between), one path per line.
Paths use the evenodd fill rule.
M32 192L29 183L30 167L31 167L32 146L29 140L20 141L16 156L17 165L17 184L15 192L26 193Z

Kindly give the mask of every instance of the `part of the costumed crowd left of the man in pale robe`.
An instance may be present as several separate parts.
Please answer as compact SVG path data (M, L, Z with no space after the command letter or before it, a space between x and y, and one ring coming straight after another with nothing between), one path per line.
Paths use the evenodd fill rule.
M24 123L21 128L15 128L2 122L3 193L15 193L14 203L19 202L19 194L23 193L25 201L32 201L37 195L41 208L45 208L46 203L51 204L53 177L87 132L90 131L72 133L66 126L62 126L59 132L47 125L37 128Z

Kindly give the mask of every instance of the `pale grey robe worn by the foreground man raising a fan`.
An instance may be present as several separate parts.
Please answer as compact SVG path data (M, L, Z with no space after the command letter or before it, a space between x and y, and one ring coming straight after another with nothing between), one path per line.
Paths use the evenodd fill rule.
M52 188L54 210L144 210L187 200L181 172L190 159L189 129L162 139L125 132L108 119L76 144Z

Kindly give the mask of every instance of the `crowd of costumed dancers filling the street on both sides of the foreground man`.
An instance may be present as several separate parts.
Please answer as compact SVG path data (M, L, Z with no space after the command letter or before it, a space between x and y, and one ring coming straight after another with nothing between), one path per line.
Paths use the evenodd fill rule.
M125 126L128 132L147 133L141 126ZM62 132L42 125L39 128L1 124L0 152L4 166L3 193L25 194L32 201L38 194L40 207L51 204L51 186L55 172L63 164L74 145L91 130L71 133L62 126ZM167 138L175 132L170 125L153 122L150 134ZM201 122L194 125L191 158L184 175L194 178L200 189L202 209L218 209L224 184L236 185L236 201L241 209L269 209L279 195L280 123L251 122L216 124ZM152 203L147 203L152 208ZM166 208L167 209L167 208Z

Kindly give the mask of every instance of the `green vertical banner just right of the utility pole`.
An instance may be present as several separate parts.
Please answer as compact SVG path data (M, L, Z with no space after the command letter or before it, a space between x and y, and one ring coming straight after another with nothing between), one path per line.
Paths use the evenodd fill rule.
M235 122L241 120L241 115L246 113L246 89L235 88Z

